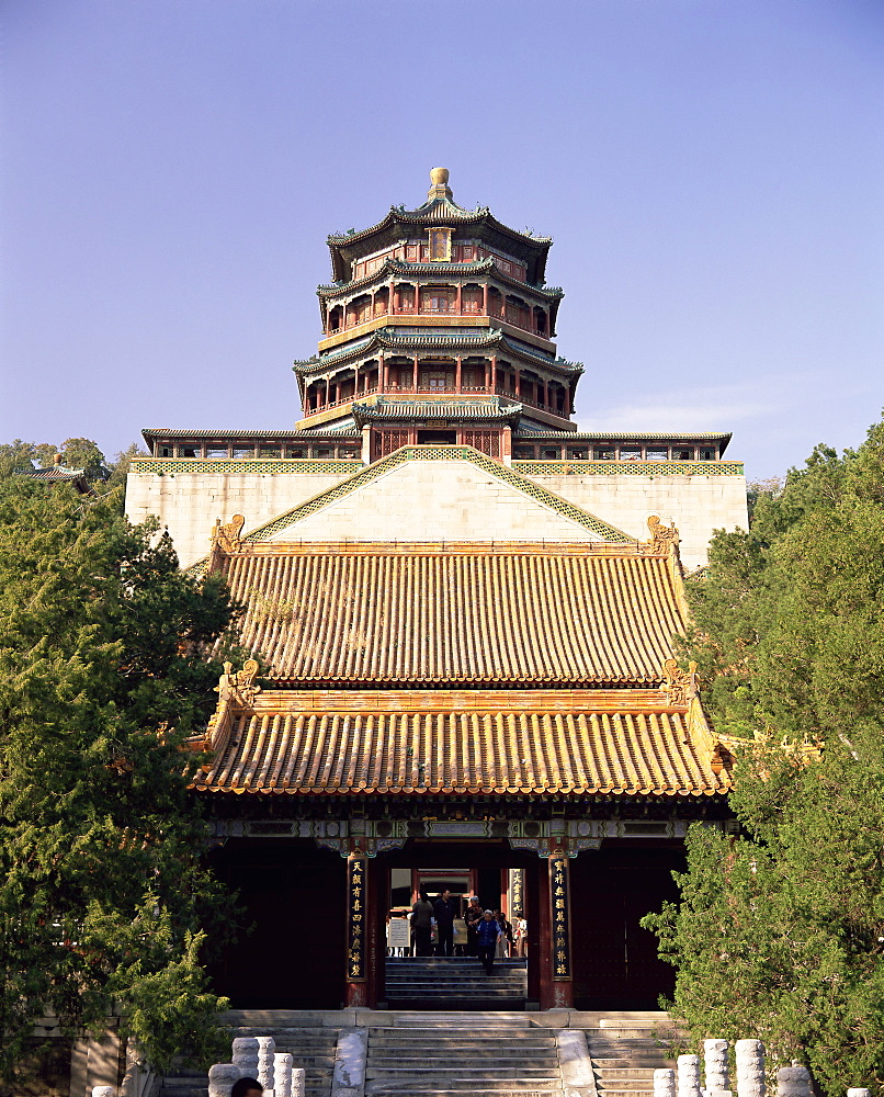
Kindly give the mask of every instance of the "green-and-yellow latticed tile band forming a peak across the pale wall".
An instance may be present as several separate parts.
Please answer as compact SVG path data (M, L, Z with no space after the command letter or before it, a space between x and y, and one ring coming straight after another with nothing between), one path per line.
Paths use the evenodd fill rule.
M268 541L274 533L294 524L302 518L306 518L307 514L315 513L329 504L336 502L338 499L343 498L343 496L350 495L351 491L355 491L364 484L369 484L377 479L378 476L392 472L407 461L468 461L481 468L483 472L490 473L498 479L503 480L503 483L509 484L510 487L517 488L519 491L556 511L556 513L562 514L564 518L576 522L578 525L582 525L583 529L598 533L599 539L602 541L613 541L619 544L628 545L636 544L635 538L631 538L623 530L619 530L615 525L611 525L589 511L582 510L573 502L568 502L567 499L563 499L562 496L556 495L548 488L535 484L526 476L514 472L507 465L499 464L472 445L403 445L387 456L381 457L379 461L375 461L373 464L353 473L352 476L348 476L340 484L326 488L318 495L298 504L297 507L293 507L291 510L286 510L276 518L271 519L271 521L264 522L263 525L257 527L241 540L245 543ZM192 574L203 574L207 568L207 564L208 557L203 556L191 564L188 570Z

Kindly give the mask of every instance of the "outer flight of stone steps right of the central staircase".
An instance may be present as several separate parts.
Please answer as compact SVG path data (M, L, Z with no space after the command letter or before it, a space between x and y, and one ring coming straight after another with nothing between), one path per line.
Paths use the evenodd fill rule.
M668 1045L677 1033L665 1013L612 1013L587 1030L599 1097L650 1097L654 1072L675 1068Z

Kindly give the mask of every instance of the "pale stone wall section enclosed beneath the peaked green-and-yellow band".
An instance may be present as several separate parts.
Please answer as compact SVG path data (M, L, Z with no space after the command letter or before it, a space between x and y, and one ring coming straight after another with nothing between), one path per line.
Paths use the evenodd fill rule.
M248 523L247 523L248 524ZM600 541L468 461L407 461L274 541Z

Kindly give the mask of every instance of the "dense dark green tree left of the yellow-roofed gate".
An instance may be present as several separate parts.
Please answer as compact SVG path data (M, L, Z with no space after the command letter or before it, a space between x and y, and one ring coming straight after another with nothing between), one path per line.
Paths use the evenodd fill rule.
M80 1032L117 1011L143 1055L205 1060L201 951L229 905L200 861L186 791L227 629L223 585L181 573L120 491L0 477L0 1077L35 1018ZM12 1090L14 1092L14 1089Z

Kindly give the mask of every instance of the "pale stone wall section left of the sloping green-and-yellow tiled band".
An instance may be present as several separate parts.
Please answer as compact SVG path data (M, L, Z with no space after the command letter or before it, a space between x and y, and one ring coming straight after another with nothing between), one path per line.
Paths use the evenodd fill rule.
M243 533L263 525L352 473L129 473L126 517L156 514L169 528L182 567L205 556L215 519L245 514Z

